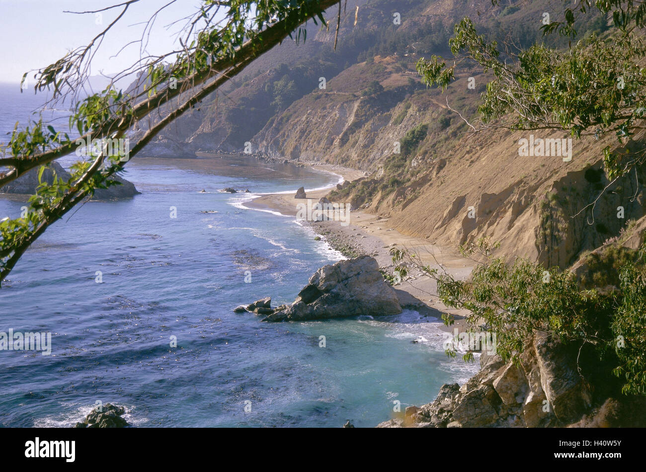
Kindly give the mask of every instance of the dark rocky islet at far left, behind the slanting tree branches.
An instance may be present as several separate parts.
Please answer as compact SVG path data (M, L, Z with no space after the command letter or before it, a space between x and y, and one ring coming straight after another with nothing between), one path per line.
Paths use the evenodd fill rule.
M43 170L43 175L41 176L43 182L47 182L49 185L54 182L54 172L52 170L56 172L56 176L59 179L67 181L70 178L70 173L55 161L50 164L49 168ZM0 187L0 193L25 195L36 193L36 187L39 185L38 172L39 169L30 170L25 175ZM131 198L141 193L137 191L132 182L122 179L119 176L112 176L109 180L119 183L117 185L111 185L107 189L96 189L92 200L118 200L121 198Z

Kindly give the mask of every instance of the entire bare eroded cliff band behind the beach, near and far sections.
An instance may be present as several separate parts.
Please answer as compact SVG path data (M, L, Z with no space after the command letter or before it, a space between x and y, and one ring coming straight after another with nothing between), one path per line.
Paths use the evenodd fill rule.
M601 170L601 149L613 145L612 138L572 139L571 160L568 152L521 156L519 143L533 132L471 133L448 109L447 99L453 109L460 103L468 109L477 94L466 87L467 77L443 96L406 83L392 58L346 72L362 76L366 68L381 70L382 83L392 88L360 96L349 88L355 82L337 77L264 127L254 138L258 149L368 170L368 178L329 198L390 217L404 234L444 247L490 238L501 243L494 255L510 260L566 268L581 251L618 236L645 214L638 185L643 167L610 186ZM426 135L405 155L406 136L420 125ZM537 132L535 138L566 139L570 149L562 133Z

